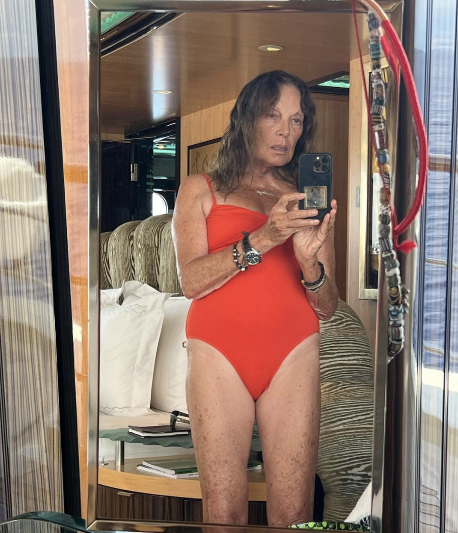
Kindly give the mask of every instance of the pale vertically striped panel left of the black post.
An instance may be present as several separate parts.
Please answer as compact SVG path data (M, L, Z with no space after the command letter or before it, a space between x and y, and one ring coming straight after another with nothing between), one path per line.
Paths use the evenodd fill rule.
M0 2L0 72L0 433L3 462L9 467L9 512L62 512L57 356L33 0Z

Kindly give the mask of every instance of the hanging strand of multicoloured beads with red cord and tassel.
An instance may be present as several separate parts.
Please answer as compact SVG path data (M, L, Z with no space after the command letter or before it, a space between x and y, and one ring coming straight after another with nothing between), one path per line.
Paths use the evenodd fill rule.
M412 223L422 205L428 168L428 141L421 116L419 100L416 94L412 70L409 66L407 56L400 43L399 37L387 16L376 2L373 0L358 1L369 9L367 23L369 27L369 55L371 59L371 84L373 89L372 103L369 103L367 96L360 39L356 21L355 0L352 0L353 20L355 21L359 46L361 74L363 76L372 146L375 151L380 171L379 245L382 252L385 277L387 278L388 285L388 358L391 360L404 348L404 316L408 310L408 290L401 281L400 263L397 254L398 252L408 253L415 246L411 241L404 241L404 243L399 244L398 238ZM383 33L381 31L382 29ZM398 86L399 68L404 75L407 95L409 102L411 103L414 125L419 142L419 182L412 207L405 219L399 224L397 222L396 211L391 204L390 156L385 135L384 118L387 88L381 70L381 58L383 52L393 70Z

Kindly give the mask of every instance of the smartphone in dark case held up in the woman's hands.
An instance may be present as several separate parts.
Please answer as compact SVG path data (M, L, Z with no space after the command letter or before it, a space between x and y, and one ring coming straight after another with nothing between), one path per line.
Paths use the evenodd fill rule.
M299 209L317 209L318 215L310 218L323 220L331 211L331 154L302 154L299 157L299 192L306 194L303 200L299 200Z

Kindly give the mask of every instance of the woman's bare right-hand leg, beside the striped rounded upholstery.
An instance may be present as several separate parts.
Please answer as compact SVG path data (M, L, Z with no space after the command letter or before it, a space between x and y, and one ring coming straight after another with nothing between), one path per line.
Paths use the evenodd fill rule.
M256 401L269 526L313 518L320 425L319 334L296 346Z

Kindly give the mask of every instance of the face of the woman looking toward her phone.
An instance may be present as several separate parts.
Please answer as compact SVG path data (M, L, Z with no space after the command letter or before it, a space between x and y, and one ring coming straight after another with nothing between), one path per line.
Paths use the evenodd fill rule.
M303 122L301 93L292 85L283 85L278 102L258 119L254 144L256 163L278 167L289 163L302 135Z

